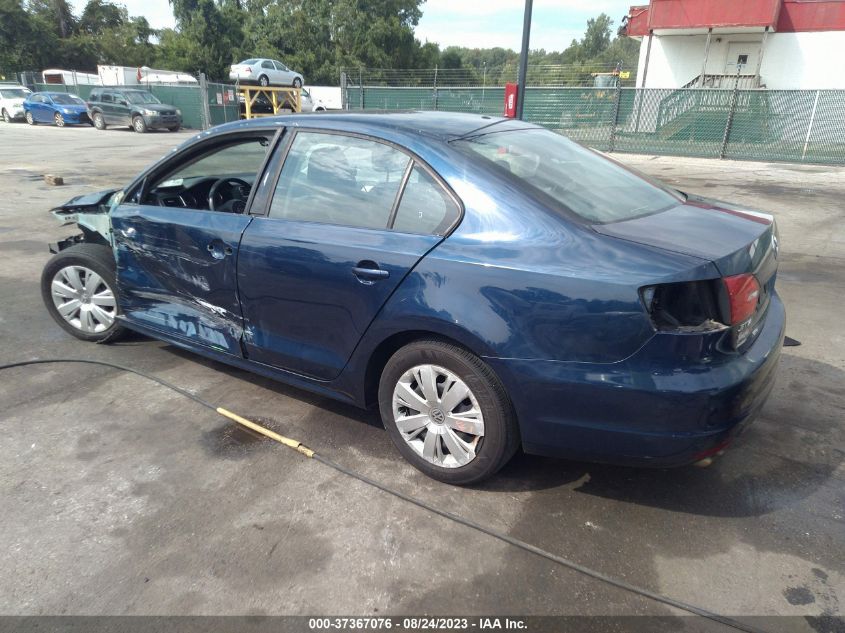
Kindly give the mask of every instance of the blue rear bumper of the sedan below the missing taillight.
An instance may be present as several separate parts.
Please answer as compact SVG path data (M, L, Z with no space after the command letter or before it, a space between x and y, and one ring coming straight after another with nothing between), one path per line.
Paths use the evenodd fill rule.
M767 312L742 354L697 364L680 355L667 363L665 348L678 343L668 334L620 363L486 360L511 394L526 452L680 466L730 441L766 402L786 324L777 294Z

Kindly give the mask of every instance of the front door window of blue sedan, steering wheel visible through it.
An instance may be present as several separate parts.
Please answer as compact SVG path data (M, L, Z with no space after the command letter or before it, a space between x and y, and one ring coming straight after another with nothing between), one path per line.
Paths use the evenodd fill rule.
M141 204L243 213L270 141L262 135L215 144L159 176Z

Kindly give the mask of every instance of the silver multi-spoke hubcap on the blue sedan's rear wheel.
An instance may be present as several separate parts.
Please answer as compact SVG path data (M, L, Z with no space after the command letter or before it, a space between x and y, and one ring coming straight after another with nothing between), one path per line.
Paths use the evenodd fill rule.
M408 446L443 468L470 463L484 436L484 416L472 391L437 365L417 365L402 374L393 390L393 419Z

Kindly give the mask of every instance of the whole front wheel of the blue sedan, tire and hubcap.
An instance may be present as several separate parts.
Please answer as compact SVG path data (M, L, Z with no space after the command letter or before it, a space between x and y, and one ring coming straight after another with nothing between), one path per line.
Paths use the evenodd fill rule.
M121 336L114 271L107 246L77 244L54 255L41 274L41 297L53 320L83 341L106 343Z

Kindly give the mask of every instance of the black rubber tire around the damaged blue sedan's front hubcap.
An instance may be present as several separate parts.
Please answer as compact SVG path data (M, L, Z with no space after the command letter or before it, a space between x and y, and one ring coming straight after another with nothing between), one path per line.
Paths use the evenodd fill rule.
M117 304L117 280L115 279L114 255L108 246L100 244L76 244L54 255L44 266L41 273L41 298L47 307L47 312L53 320L68 334L91 343L108 343L117 340L126 333L126 329L115 319L108 329L100 332L84 332L74 327L59 313L53 302L53 279L63 268L68 266L84 266L97 273L115 296L115 313L120 314Z

